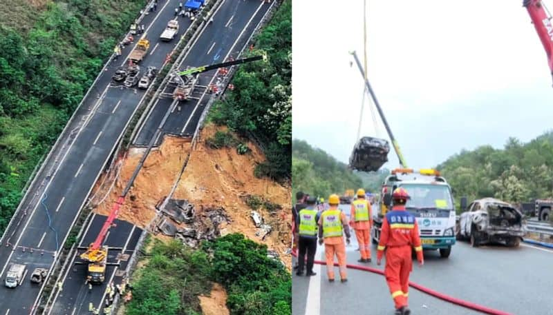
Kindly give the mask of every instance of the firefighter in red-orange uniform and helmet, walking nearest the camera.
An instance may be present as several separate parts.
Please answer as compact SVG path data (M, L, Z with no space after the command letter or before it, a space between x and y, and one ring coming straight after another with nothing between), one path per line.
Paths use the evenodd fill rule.
M409 315L407 307L409 297L409 272L413 270L411 248L415 247L419 266L424 264L422 245L420 244L419 229L415 216L405 210L405 203L409 194L402 187L392 194L393 207L384 216L382 231L378 243L377 265L380 265L382 254L386 249L386 267L384 276L390 287L395 303L396 315Z

